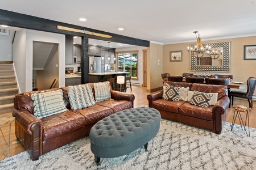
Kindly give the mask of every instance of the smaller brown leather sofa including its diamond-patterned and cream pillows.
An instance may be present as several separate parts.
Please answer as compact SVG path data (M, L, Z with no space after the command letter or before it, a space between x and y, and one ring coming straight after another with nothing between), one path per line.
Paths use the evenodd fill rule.
M226 86L165 82L163 90L147 95L148 107L162 118L221 133L229 97Z

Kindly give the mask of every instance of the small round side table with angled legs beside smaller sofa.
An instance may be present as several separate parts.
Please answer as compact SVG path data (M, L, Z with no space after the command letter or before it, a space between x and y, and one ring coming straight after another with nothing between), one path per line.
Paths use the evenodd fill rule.
M233 108L234 108L234 115L233 115L233 121L232 121L232 126L231 126L231 131L233 129L233 126L234 126L234 122L236 121L236 118L238 116L238 119L240 121L240 125L241 125L241 128L242 128L242 125L243 125L243 128L245 129L245 133L247 136L250 137L250 124L249 124L249 111L251 111L251 108L247 108L243 105L233 105ZM242 117L241 117L241 113L240 112L246 112L246 117L245 117L245 124L243 124L243 120L242 120ZM236 116L235 116L236 114ZM241 123L242 121L242 123ZM247 134L247 131L246 131L246 124L248 122L248 134ZM243 130L242 128L242 130Z

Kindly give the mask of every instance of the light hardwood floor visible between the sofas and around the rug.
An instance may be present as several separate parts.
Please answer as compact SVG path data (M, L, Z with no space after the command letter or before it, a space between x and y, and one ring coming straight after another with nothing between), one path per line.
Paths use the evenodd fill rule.
M134 94L135 95L135 101L134 101L134 108L136 107L141 107L144 105L148 105L147 101L147 90L146 87L138 87L138 86L133 86L133 91L130 90L130 88L127 89L128 93ZM254 107L256 108L256 102L253 101ZM234 99L234 104L236 105L245 105L246 107L249 107L248 101L247 100L242 100L242 99ZM251 112L249 112L249 118L250 118L250 127L251 128L256 128L256 109L253 108ZM228 122L232 122L233 119L233 113L234 109L229 108L228 109L228 117L227 120ZM6 114L1 114L2 115L11 115L11 113L6 113ZM242 118L245 120L245 113L242 113ZM236 124L239 124L239 120L237 119ZM8 139L8 134L9 134L9 125L4 125L1 126L1 129L3 131L3 135L5 135L6 140ZM5 141L3 140L2 134L0 134L0 139L3 143L3 147L6 147ZM10 149L9 149L9 155L16 155L19 154L20 152L25 151L24 147L18 142L15 143L16 137L15 137L15 129L14 129L14 122L11 123L11 138L10 138ZM5 156L3 155L2 149L0 148L0 160L5 159Z

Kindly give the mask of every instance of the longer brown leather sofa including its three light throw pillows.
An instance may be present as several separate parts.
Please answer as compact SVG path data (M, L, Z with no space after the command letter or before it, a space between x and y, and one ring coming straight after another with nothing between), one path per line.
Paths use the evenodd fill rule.
M96 122L133 108L134 95L109 82L23 92L15 96L15 135L32 160L89 135Z

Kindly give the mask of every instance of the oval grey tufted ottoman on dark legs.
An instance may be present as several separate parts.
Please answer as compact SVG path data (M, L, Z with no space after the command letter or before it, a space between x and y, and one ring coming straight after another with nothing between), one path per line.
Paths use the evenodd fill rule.
M90 149L95 162L129 154L155 137L160 128L160 113L148 107L131 108L98 121L90 130Z

